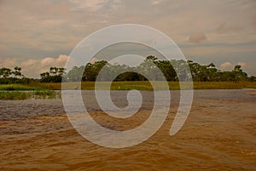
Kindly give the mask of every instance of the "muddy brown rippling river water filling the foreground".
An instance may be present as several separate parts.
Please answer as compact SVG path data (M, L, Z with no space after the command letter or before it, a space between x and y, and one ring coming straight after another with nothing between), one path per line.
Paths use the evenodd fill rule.
M127 105L126 93L113 92L115 105ZM195 90L186 123L170 136L178 97L172 91L171 110L156 134L120 149L85 140L61 100L0 100L0 170L256 170L256 90ZM96 122L125 130L148 118L153 100L144 91L141 110L128 119L108 117L93 100L86 104Z

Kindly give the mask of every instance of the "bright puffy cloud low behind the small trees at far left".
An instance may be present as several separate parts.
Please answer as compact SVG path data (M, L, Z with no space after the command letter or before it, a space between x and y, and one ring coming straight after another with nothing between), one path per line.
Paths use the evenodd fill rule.
M68 60L68 56L60 54L58 58L46 57L41 60L29 59L21 61L14 58L3 59L0 67L14 68L20 66L22 74L26 77L40 77L40 73L49 71L49 67L64 67Z

